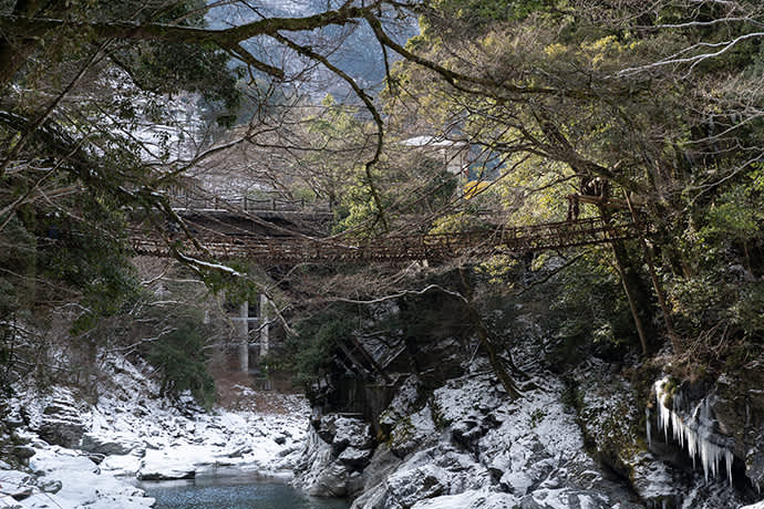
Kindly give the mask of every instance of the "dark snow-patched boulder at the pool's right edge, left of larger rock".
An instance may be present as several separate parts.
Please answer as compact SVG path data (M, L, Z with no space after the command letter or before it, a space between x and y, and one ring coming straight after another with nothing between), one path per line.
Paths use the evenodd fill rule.
M354 417L327 415L312 422L296 482L314 497L347 497L363 488L374 440L370 426Z

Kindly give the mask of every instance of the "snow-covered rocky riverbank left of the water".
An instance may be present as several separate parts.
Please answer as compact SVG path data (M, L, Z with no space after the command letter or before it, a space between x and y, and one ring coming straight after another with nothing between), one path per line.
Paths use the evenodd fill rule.
M29 463L34 475L0 463L0 508L147 508L153 499L143 496L134 478L189 478L218 467L285 477L302 448L310 411L300 396L267 393L278 399L272 405L278 413L205 413L189 396L175 405L159 398L156 384L124 359L106 359L105 366L111 381L100 387L95 405L73 403L69 391L56 387L42 397L20 392L11 402L29 420L17 434L34 449ZM239 399L255 396L248 387L235 388ZM51 402L72 402L80 413L85 434L79 448L39 437L40 426L50 420Z

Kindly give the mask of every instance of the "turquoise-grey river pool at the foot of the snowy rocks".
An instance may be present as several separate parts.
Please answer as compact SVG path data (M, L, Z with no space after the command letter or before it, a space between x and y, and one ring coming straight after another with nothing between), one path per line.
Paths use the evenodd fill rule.
M205 476L143 482L155 509L348 509L344 500L307 497L286 482L254 476Z

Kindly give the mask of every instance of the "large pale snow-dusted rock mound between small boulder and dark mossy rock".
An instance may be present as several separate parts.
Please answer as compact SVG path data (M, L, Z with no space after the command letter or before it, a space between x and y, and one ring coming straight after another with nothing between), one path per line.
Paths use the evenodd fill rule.
M584 449L565 385L512 402L485 372L393 399L353 509L642 507ZM406 382L403 387L415 384ZM419 402L415 404L414 402Z

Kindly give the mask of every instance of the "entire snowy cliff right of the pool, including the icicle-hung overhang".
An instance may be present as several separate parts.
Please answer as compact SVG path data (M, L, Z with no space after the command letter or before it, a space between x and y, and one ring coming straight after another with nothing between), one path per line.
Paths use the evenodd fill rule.
M589 353L560 367L546 355L559 337L530 315L515 316L513 333L519 398L507 395L475 340L419 341L410 362L398 366L426 367L388 372L390 397L374 401L382 412L357 402L355 415L342 417L323 399L297 481L313 495L348 495L354 509L724 509L760 498L752 481L761 480L764 407L754 397L755 376L683 388L688 396L674 397L682 406L672 422L673 403L663 401L660 411L650 393L655 384L640 382L654 376L654 366ZM384 359L379 344L366 347ZM703 398L699 427L693 418ZM691 450L688 434L673 432L682 418L701 437ZM328 432L343 420L352 420L363 444ZM711 444L719 447L713 458Z

